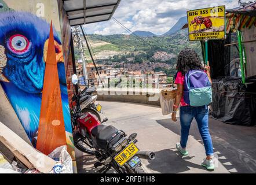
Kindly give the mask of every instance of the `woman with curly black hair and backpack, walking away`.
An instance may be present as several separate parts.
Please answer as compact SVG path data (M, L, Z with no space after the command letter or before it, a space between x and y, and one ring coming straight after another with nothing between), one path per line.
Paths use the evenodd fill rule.
M171 119L173 121L177 121L176 111L178 105L181 104L181 139L180 143L176 144L176 148L178 151L180 151L182 155L188 155L188 151L186 150L186 143L188 141L189 129L192 120L195 117L200 135L202 136L202 140L204 143L204 149L206 150L206 158L204 158L202 166L205 166L207 169L213 170L213 144L211 141L208 127L209 108L207 104L209 103L209 101L207 101L207 97L204 98L204 95L207 95L207 93L211 91L210 66L207 65L203 67L198 54L194 50L184 49L180 52L178 56L177 70L178 72L174 82L175 84L177 84L177 95L175 97L175 103L173 105L173 113L171 114ZM204 79L203 82L199 82L200 80L202 81L202 79ZM195 87L198 86L197 84L204 84L205 87L196 89ZM191 90L190 87L192 86L194 86L194 92L200 92L203 89L203 96L197 96L198 94L196 95L196 93ZM204 102L206 102L205 105Z

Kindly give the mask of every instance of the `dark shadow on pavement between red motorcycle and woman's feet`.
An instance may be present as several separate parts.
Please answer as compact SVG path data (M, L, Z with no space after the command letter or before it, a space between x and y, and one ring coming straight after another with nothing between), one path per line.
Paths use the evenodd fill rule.
M189 171L191 167L205 169L203 166L189 161L194 156L182 157L175 148L164 149L155 153L155 160L148 161L147 168L159 173L181 173Z

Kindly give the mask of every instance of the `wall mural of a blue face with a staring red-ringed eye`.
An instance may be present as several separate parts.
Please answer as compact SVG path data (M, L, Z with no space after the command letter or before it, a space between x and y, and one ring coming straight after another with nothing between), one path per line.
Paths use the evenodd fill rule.
M44 145L52 142L46 138L38 138L39 122L55 120L51 123L52 125L62 125L56 120L61 122L63 119L68 151L74 160L74 142L57 1L0 0L0 17L0 83L3 90L34 147L38 140L45 139ZM51 21L54 51L49 52L47 50L51 45L49 43ZM52 74L46 72L47 53L51 52L56 56L58 80L54 80L51 78ZM44 80L47 81L44 82ZM54 80L54 85L59 86L60 91L56 92L55 97L52 96L50 100L46 96L42 102L42 92L47 94L45 91L50 91L50 88L54 87L54 85L47 85L48 80L49 82ZM60 103L57 102L58 96L61 99ZM46 100L48 103L45 102ZM49 101L53 103L49 104ZM61 108L62 111L55 109L58 113L54 113L54 109L47 107L52 104L56 108ZM47 112L47 110L51 111ZM58 117L54 119L54 115ZM54 134L54 131L51 130L49 134ZM63 139L63 135L55 135L55 138L58 136Z

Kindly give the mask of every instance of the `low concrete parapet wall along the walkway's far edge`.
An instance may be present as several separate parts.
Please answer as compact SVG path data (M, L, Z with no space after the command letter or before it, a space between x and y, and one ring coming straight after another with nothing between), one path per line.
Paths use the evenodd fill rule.
M159 89L147 89L147 88L98 88L97 100L100 101L116 101L116 102L133 102L143 103L148 105L158 105L159 101Z

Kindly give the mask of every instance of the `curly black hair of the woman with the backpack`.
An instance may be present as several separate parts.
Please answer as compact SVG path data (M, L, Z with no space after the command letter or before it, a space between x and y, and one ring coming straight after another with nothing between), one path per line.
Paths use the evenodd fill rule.
M203 70L202 62L195 50L185 48L178 55L177 70L185 75L189 70Z

